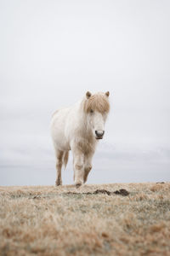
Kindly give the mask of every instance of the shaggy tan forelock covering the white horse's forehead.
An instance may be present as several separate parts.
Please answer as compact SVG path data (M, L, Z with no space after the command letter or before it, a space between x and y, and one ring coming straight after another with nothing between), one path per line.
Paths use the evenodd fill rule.
M110 103L105 93L97 93L84 100L84 112L89 113L91 109L99 111L99 113L108 113L110 111Z

